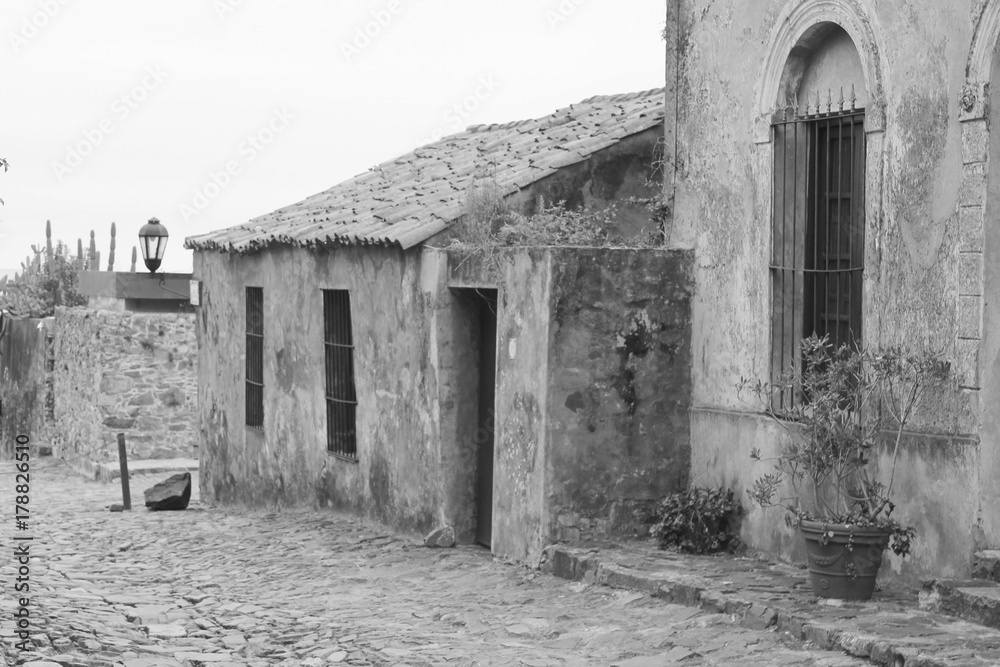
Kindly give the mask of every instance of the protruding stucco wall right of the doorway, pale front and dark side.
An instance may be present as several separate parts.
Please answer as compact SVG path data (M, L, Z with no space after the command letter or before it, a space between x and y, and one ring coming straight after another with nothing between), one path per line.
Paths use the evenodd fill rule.
M450 260L449 285L501 295L494 552L533 562L551 542L641 533L635 510L687 483L691 253Z

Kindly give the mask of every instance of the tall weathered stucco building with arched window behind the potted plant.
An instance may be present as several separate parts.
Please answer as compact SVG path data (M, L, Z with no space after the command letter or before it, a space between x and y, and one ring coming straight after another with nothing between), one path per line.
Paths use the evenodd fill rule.
M1000 546L1000 2L669 0L665 35L670 238L697 285L692 482L742 493L764 471L749 452L781 436L736 384L794 363L798 336L943 350L956 378L896 471L918 540L888 569L967 574ZM801 556L770 510L744 531Z

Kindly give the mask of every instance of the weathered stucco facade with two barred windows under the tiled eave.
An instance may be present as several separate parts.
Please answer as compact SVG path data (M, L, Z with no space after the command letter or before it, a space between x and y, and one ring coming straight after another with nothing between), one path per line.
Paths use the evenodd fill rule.
M437 524L437 378L420 268L419 250L195 253L203 498L329 505L410 530ZM248 285L264 296L260 433L244 417ZM323 289L351 296L357 462L326 451Z

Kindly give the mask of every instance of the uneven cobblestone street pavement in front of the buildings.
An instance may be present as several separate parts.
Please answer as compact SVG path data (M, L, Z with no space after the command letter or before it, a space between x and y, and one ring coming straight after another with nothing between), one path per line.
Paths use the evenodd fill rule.
M429 549L331 512L133 505L118 484L33 461L30 530L0 534L0 651L32 667L229 665L817 665L865 662L641 593ZM14 504L0 463L0 498ZM19 651L13 534L31 535L33 650Z

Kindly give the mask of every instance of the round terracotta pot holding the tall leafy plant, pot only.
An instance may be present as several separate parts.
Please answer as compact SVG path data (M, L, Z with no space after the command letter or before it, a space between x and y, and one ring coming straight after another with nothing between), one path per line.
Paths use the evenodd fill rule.
M799 532L806 541L809 578L821 598L868 600L875 591L875 577L889 532L872 526L802 521Z

